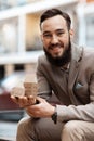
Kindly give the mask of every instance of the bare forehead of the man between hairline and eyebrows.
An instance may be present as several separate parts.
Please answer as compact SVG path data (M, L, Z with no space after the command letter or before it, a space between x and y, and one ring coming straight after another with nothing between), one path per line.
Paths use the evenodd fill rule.
M62 29L67 28L66 21L61 15L50 17L41 24L42 31L54 30L54 29L59 29L59 28L62 28Z

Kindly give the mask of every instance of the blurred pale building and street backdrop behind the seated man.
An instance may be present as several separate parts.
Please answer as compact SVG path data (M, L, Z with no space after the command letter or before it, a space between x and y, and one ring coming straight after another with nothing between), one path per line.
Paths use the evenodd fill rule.
M17 121L27 116L11 101L10 91L36 72L37 59L43 53L39 20L51 8L69 13L73 42L94 47L94 0L0 0L0 139L14 141Z

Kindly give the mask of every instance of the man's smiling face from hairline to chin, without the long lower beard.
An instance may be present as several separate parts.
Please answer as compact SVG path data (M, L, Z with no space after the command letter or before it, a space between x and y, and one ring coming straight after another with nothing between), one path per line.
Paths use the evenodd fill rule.
M62 57L70 43L70 33L65 18L56 15L45 20L41 24L41 33L44 51L53 59Z

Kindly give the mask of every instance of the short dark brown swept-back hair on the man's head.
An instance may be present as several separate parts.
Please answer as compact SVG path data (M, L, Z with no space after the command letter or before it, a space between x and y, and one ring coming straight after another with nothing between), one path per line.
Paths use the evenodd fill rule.
M67 13L62 12L62 11L58 10L58 9L51 9L51 10L45 11L45 12L41 15L41 17L40 17L40 26L41 26L41 24L42 24L43 21L45 21L45 20L48 20L48 18L50 18L50 17L53 17L53 16L55 16L55 15L62 15L62 16L65 18L65 21L66 21L66 23L67 23L68 30L69 30L69 29L70 29L70 26L71 26L70 16L69 16Z

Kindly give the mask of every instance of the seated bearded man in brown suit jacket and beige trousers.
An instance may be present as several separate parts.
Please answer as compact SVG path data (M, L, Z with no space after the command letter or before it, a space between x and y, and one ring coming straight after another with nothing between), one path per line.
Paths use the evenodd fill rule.
M94 51L72 43L67 13L45 11L40 18L44 55L38 60L37 103L33 98L12 100L29 117L19 121L17 141L94 141ZM48 100L52 91L61 105Z

